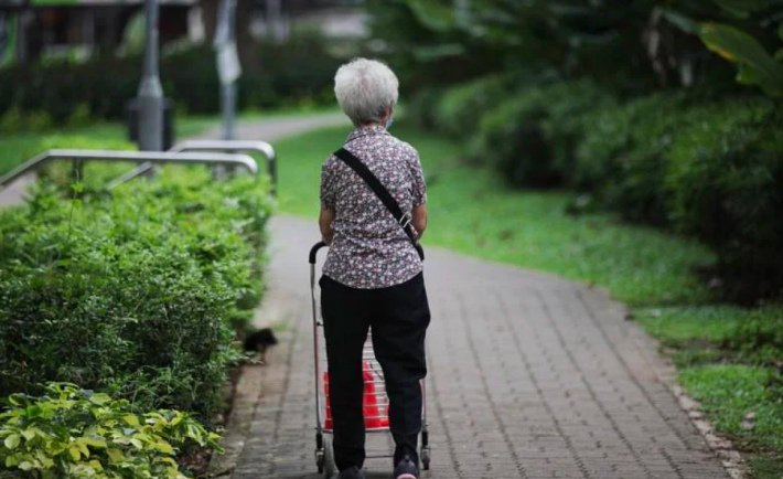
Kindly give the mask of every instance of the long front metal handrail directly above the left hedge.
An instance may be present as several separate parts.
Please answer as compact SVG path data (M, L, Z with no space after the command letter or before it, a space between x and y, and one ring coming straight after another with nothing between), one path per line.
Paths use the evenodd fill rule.
M6 187L30 170L55 160L98 160L98 161L133 161L137 163L203 163L234 164L258 174L258 163L249 155L236 153L183 153L157 151L116 151L116 150L49 150L25 161L19 168L0 177L0 188Z

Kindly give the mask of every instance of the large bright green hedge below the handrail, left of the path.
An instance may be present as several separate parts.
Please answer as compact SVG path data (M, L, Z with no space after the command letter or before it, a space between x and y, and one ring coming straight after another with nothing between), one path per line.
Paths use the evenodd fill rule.
M205 169L0 212L0 395L67 381L208 417L260 299L268 188Z

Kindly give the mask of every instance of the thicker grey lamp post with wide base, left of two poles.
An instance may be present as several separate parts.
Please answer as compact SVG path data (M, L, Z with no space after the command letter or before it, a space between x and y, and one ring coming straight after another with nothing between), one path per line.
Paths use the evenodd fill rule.
M139 85L139 148L163 150L163 87L158 71L158 0L147 0L144 70Z

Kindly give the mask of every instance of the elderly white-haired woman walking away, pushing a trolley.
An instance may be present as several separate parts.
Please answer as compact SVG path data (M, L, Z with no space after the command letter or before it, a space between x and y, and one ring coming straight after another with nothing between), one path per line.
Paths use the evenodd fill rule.
M427 194L417 151L388 132L397 87L397 77L386 65L364 58L343 65L334 78L340 107L355 126L341 149L344 155L331 156L321 173L320 227L330 245L320 281L321 306L334 458L342 479L364 477L362 349L369 328L389 397L394 478L419 477L419 381L427 373L430 311L416 242L427 227ZM404 214L401 221L346 156L390 193Z

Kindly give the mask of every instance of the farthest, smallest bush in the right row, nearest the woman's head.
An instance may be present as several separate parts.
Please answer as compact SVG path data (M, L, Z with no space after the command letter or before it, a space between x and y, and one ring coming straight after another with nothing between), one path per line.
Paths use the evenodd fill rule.
M514 77L490 75L448 89L436 109L436 128L452 138L465 138L479 127L483 113L511 96Z

